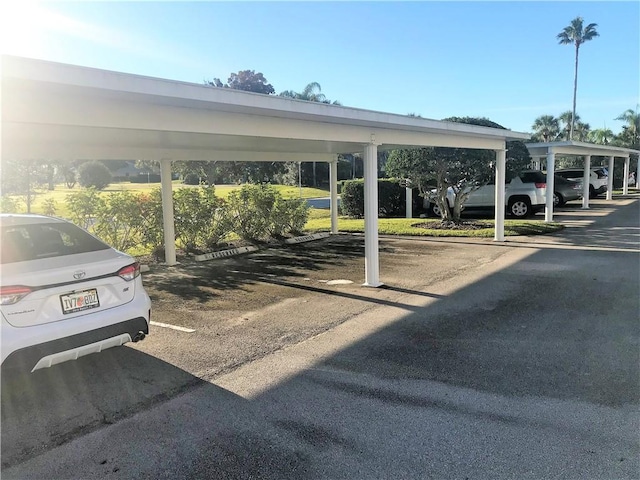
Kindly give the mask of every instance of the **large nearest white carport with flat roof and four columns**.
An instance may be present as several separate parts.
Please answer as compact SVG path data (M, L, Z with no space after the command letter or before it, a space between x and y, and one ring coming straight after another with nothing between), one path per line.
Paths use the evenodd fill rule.
M330 164L331 231L338 232L338 154L362 153L365 282L378 261L378 150L426 146L494 150L495 240L504 241L506 142L528 134L225 88L2 56L2 156L29 160L157 160L164 238L175 238L171 162ZM174 241L165 241L168 265Z

